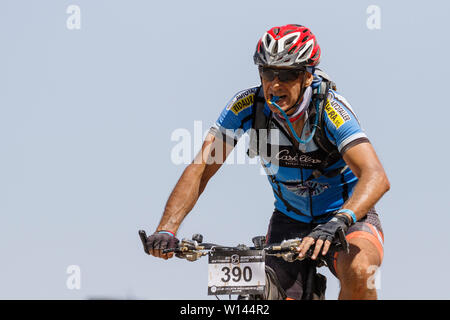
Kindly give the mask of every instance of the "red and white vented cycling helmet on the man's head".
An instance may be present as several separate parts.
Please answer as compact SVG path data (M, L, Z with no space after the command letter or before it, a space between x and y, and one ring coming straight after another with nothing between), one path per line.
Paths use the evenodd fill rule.
M259 40L253 61L260 66L315 67L320 61L320 47L316 36L304 26L273 27Z

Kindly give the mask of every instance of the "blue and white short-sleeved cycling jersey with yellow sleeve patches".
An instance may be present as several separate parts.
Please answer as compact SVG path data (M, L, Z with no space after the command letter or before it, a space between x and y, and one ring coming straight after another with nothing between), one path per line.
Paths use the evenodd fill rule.
M315 76L313 89L320 82L321 78ZM217 137L227 138L227 141L237 141L251 129L257 88L237 93L223 109L210 132ZM369 141L350 104L336 91L330 90L324 112L326 136L341 155L352 146ZM264 113L270 114L267 104ZM277 133L268 135L268 143L276 144L275 157L278 162L274 165L266 162L263 157L261 162L274 192L275 208L301 222L322 223L329 220L329 214L340 209L352 195L358 179L342 157L326 167L323 175L314 178L312 172L324 160L324 152L314 140L295 147L288 134L289 129L276 117L272 117L270 130ZM301 139L306 140L310 133L309 121L305 121ZM327 173L334 172L337 168L342 170L327 177Z

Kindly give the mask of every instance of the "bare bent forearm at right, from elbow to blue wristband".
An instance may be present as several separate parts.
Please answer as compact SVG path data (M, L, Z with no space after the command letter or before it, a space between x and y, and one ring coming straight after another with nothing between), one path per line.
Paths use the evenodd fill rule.
M352 210L359 220L375 206L389 188L389 181L384 171L362 172L352 196L342 208Z

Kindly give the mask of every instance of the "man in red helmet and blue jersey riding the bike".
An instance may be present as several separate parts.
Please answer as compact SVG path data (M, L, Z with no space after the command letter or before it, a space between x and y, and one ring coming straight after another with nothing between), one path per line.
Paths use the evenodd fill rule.
M175 234L209 179L244 132L263 128L276 133L263 144L277 150L259 154L275 196L267 242L303 238L300 256L310 247L312 259L326 256L340 281L340 299L377 298L370 279L383 259L383 231L374 206L390 184L354 110L317 68L320 56L316 37L304 26L273 27L262 36L254 54L262 85L238 92L223 109L147 239L151 255L173 256L162 249L176 246ZM339 228L349 253L328 250ZM290 299L302 297L304 261L266 258Z

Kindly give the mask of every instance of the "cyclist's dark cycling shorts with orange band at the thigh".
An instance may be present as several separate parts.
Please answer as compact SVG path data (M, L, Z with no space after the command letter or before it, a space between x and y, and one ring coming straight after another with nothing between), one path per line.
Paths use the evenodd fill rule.
M267 244L280 243L283 240L304 238L317 225L302 223L275 210L270 219L266 236ZM383 229L375 209L369 210L367 215L353 224L346 233L346 239L364 238L377 248L383 259ZM336 260L338 252L328 252L326 263L331 273L336 276ZM308 271L308 260L287 262L282 258L266 256L266 264L276 273L279 284L288 298L300 300L303 295L304 281Z

